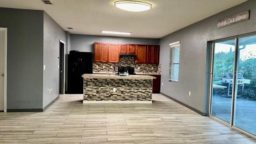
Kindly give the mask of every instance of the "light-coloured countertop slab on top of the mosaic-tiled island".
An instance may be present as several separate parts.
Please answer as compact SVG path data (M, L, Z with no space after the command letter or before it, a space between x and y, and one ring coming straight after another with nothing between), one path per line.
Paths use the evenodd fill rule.
M130 79L130 80L153 80L154 76L146 76L146 75L129 75L129 76L118 76L114 74L83 74L83 78L85 79Z

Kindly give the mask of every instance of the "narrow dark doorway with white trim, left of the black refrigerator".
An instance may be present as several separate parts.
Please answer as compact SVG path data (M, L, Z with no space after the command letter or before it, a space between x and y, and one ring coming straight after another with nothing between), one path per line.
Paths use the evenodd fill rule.
M65 92L65 42L60 40L59 55L59 94Z

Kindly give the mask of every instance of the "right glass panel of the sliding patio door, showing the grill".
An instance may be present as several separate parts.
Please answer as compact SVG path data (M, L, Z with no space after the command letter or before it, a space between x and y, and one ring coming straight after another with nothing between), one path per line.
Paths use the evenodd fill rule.
M233 125L256 135L256 36L238 38Z

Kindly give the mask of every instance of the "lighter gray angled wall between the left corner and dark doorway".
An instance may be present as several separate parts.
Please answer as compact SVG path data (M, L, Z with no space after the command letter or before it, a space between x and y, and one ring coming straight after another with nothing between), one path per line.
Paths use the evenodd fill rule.
M46 70L43 73L43 108L59 94L60 40L66 43L66 32L44 12L44 65L46 65ZM51 93L49 93L49 88L52 88Z

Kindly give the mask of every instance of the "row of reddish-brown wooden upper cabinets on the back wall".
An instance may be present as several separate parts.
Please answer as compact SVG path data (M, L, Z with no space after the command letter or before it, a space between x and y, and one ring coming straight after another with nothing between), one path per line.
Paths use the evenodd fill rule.
M94 62L119 62L119 54L135 54L136 64L159 64L160 48L143 44L94 43Z

